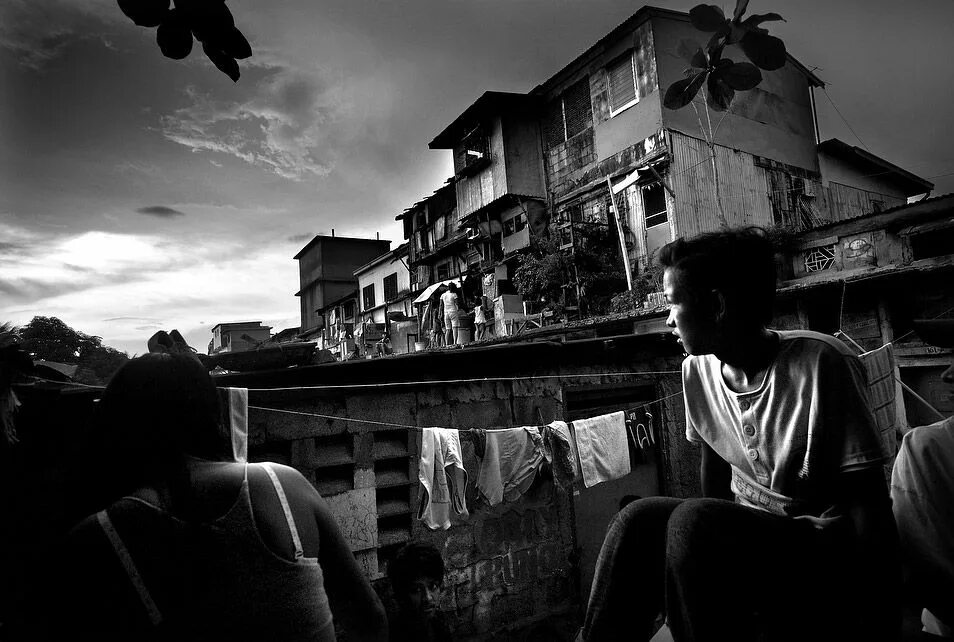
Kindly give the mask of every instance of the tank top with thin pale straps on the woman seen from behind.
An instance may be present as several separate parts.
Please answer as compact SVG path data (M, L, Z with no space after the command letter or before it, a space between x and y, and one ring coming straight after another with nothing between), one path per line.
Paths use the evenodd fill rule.
M141 498L124 497L109 508L122 526L120 535L106 511L97 513L160 637L333 639L321 567L316 558L304 557L281 483L268 464L260 465L285 513L294 561L279 557L262 540L252 512L248 465L235 504L210 522L184 522Z

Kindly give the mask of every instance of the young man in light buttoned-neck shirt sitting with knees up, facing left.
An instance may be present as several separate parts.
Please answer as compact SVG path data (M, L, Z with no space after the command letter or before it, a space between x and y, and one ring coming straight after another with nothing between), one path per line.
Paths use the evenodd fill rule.
M660 262L705 498L617 515L583 639L648 640L660 612L677 641L894 639L897 532L863 366L830 336L766 328L762 230L680 239Z

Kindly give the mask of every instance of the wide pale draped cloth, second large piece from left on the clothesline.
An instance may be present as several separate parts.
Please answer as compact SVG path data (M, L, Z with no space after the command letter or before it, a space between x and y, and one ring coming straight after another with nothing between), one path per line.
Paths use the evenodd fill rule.
M527 492L544 461L543 438L536 426L486 431L487 443L477 472L477 490L491 506Z

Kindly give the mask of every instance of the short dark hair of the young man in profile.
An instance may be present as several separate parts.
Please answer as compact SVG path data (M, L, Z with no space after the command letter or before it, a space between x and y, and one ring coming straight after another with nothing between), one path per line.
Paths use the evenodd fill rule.
M742 227L676 239L659 251L659 264L678 271L696 293L718 290L742 318L767 325L775 303L775 248L760 227Z

